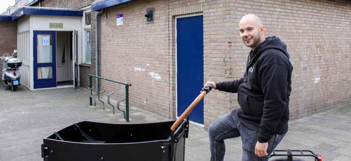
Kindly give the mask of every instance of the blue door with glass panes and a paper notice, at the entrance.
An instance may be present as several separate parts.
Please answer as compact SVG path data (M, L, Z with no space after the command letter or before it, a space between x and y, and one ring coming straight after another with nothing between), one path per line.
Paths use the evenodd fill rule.
M56 31L33 31L34 89L56 87Z

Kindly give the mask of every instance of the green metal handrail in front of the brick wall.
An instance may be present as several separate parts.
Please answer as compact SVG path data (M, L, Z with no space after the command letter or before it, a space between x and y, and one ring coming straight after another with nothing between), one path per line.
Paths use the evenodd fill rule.
M125 121L129 122L129 86L132 86L132 84L124 83L124 82L120 82L120 81L116 81L116 80L112 80L112 79L107 79L107 78L92 75L92 74L88 74L88 75L89 75L89 88L92 88L92 77L124 85L124 88L125 88ZM90 103L90 105L92 105L92 98L91 97L89 97L89 103Z

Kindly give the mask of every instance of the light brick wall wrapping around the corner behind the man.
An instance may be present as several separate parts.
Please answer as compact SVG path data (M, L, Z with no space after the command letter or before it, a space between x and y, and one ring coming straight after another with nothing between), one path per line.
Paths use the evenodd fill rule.
M155 8L155 21L146 24L143 15L150 7ZM174 16L199 12L204 17L204 81L244 75L249 48L240 40L238 23L242 16L256 14L267 28L266 36L279 36L288 45L294 66L291 118L351 102L349 1L136 0L106 11L102 76L132 83L131 104L165 117L175 117ZM116 26L120 13L124 24ZM102 88L124 97L122 86L103 82ZM205 127L238 108L236 97L211 92L205 98Z

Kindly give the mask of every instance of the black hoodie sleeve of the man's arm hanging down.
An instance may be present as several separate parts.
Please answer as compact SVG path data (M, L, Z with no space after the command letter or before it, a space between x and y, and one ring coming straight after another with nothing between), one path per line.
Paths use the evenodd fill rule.
M258 141L266 143L275 134L287 103L288 68L273 62L259 69L259 77L264 95L263 116L259 126Z

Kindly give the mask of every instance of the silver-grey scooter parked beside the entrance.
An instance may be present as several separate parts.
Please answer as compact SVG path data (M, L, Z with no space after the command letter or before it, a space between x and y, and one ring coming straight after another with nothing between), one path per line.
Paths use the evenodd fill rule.
M12 89L13 91L17 90L17 86L20 86L21 74L19 72L19 67L22 66L22 61L17 58L17 50L14 50L14 53L10 56L8 53L5 53L0 57L2 62L2 74L1 80L2 83L7 86L7 89Z

